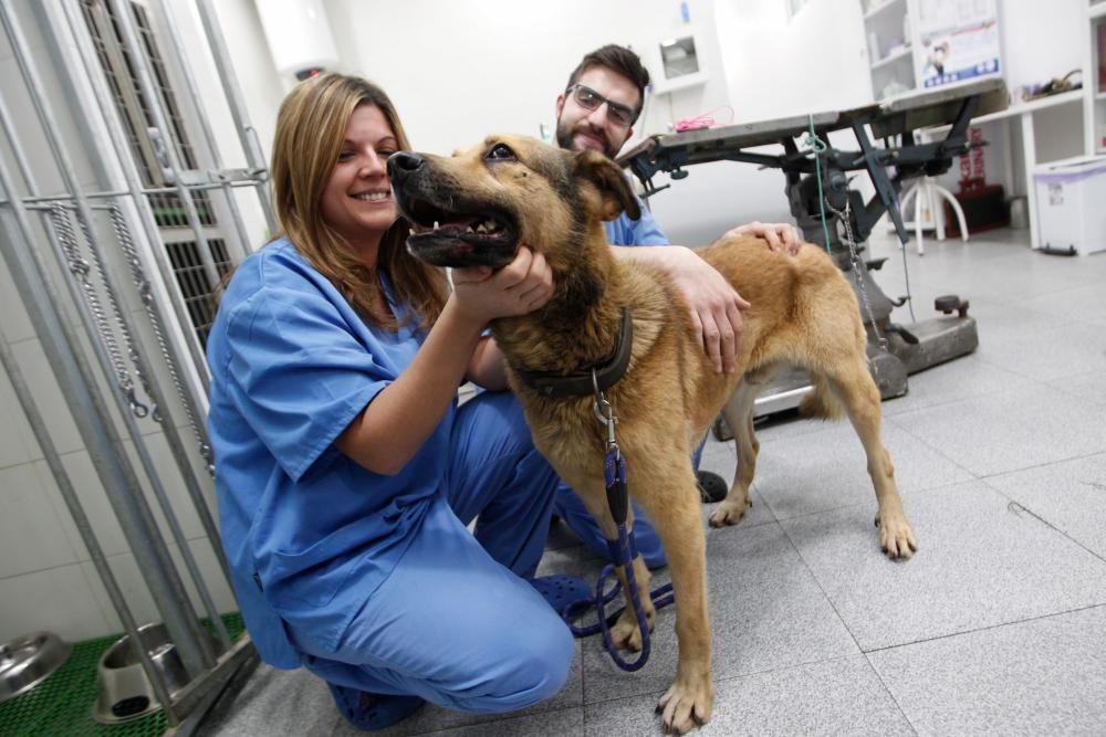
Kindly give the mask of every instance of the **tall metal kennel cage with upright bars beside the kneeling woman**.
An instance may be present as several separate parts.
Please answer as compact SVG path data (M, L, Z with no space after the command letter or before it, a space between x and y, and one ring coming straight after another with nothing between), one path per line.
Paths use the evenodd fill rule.
M0 96L0 255L179 654L185 683L170 693L164 670L135 647L167 724L178 728L252 654L248 638L230 636L211 596L220 577L229 587L229 572L211 512L204 344L220 281L260 240L248 234L249 217L274 231L268 172L215 7L196 0L195 10L219 101L204 98L186 59L197 50L184 49L175 15L184 6L0 2L20 83L11 92L9 81ZM205 114L211 104L229 109L246 167L221 160ZM28 375L2 331L0 360L111 603L138 642L133 602L42 408L44 387L54 385ZM155 435L170 463L152 452ZM207 570L169 480L185 488L187 514L202 527L216 561Z

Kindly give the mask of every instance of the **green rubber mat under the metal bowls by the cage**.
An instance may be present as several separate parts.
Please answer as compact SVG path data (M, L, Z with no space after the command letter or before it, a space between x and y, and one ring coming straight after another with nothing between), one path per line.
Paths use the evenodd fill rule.
M246 629L238 612L222 614L234 640ZM210 622L204 625L215 634ZM96 664L122 634L73 644L73 653L49 678L31 691L0 704L2 737L159 737L168 726L165 714L155 712L125 724L104 725L92 718L96 701Z

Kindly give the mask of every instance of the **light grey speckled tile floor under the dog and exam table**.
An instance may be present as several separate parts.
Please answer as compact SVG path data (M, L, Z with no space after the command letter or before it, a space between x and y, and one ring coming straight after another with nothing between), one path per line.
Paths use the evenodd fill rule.
M956 292L980 333L975 354L884 403L912 560L878 551L847 425L761 431L751 514L708 533L717 701L701 734L1106 734L1106 254L1048 256L1026 241L997 231L908 252L918 318ZM870 250L890 256L879 285L902 294L898 250ZM905 308L895 319L911 322ZM728 476L733 453L711 441L703 465ZM546 558L597 570L571 544ZM660 734L672 622L664 610L638 673L593 638L545 704L481 717L424 707L386 734ZM355 734L321 682L267 666L204 731Z

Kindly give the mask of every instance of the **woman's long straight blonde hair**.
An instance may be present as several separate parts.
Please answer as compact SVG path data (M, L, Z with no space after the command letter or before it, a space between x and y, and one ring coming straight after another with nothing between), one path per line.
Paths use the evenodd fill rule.
M273 199L283 234L316 271L372 325L395 329L371 309L383 294L379 276L366 266L322 215L320 200L338 160L349 118L359 105L384 114L399 148L410 150L399 115L387 94L356 76L326 73L301 82L288 94L276 116L271 167ZM410 256L405 248L409 225L399 218L385 232L377 269L387 272L397 304L407 304L429 329L446 301L441 270Z

